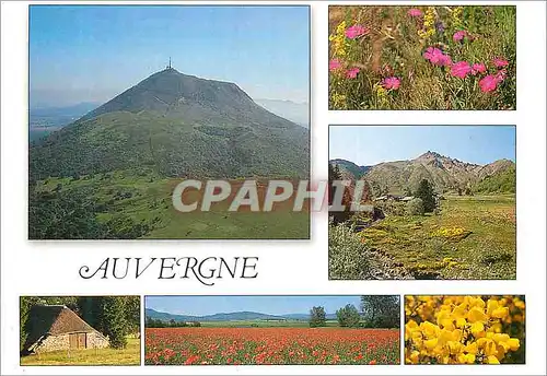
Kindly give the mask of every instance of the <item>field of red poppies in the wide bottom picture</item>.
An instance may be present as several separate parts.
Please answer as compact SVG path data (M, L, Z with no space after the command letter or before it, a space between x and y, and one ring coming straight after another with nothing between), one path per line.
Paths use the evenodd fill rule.
M399 364L396 329L147 328L148 365Z

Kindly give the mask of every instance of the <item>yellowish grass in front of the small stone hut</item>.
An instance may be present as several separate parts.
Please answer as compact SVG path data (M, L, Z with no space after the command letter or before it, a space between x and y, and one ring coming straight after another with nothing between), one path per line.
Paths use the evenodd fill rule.
M140 365L140 339L128 339L124 350L53 351L22 356L21 365Z

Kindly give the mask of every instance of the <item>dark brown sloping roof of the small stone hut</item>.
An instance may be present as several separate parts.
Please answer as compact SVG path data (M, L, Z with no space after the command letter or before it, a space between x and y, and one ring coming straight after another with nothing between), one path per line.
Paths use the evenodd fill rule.
M25 348L45 334L60 336L73 332L96 331L73 310L63 305L37 305L31 308L26 324L28 337Z

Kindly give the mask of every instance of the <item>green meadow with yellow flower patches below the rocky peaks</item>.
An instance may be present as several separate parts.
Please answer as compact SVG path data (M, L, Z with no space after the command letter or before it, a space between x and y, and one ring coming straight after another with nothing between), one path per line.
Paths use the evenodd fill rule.
M446 197L441 213L387 215L360 233L417 279L515 279L515 197Z

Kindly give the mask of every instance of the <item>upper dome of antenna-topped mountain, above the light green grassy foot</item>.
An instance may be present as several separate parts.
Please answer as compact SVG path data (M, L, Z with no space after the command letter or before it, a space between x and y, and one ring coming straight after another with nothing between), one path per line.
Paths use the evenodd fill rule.
M167 177L307 177L309 140L236 84L167 68L33 144L30 174L147 167Z

